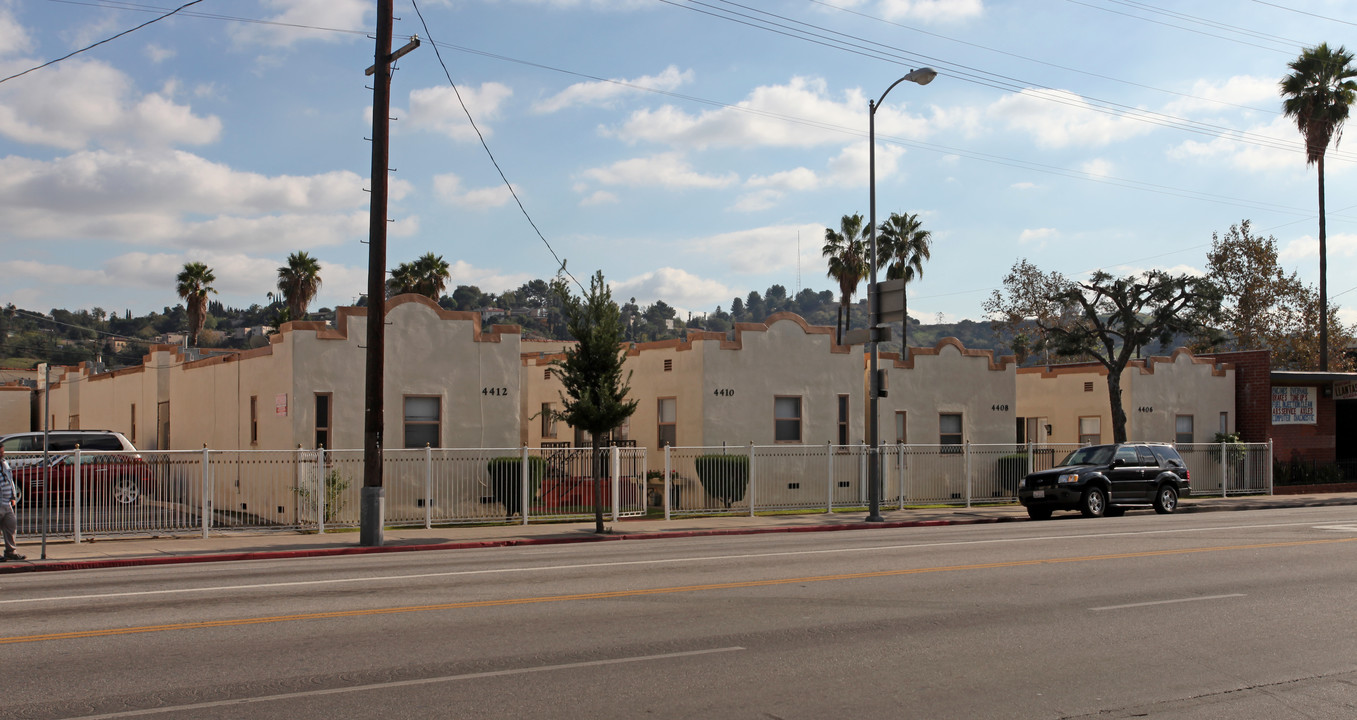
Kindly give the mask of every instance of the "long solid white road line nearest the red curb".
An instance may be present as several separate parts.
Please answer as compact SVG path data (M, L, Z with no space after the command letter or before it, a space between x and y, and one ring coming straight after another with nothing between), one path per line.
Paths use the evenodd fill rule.
M703 563L711 560L754 560L761 557L795 557L807 555L835 555L835 553L855 553L855 552L873 552L873 551L909 551L921 548L953 548L963 545L992 545L1004 542L1048 542L1056 540L1087 540L1087 538L1107 538L1107 537L1137 537L1137 536L1158 536L1158 534L1181 534L1181 533L1206 533L1215 530L1255 530L1259 527L1296 527L1296 526L1311 526L1312 522L1277 522L1277 523L1263 523L1263 525L1227 525L1221 527L1181 527L1171 530L1136 530L1136 532L1120 532L1120 533L1086 533L1086 534L1071 534L1071 536L1038 536L1038 537L1003 537L1003 538L989 538L989 540L958 540L951 542L915 542L902 545L860 545L854 548L822 548L814 551L782 551L782 552L761 552L761 553L741 553L741 555L706 555L706 556L689 556L689 557L666 557L666 559L647 559L647 560L616 560L609 563L574 563L569 565L536 565L536 567L517 567L517 568L491 568L491 569L453 569L446 572L418 572L408 575L377 575L377 576L357 576L357 578L330 578L324 580L292 580L282 583L252 583L252 584L223 584L223 586L208 586L208 587L179 587L179 588L166 588L166 590L137 590L130 593L91 593L84 595L53 595L41 598L8 598L0 599L0 606L3 605L19 605L27 602L58 602L58 601L87 601L87 599L109 599L109 598L140 598L149 595L178 595L185 593L221 593L221 591L235 591L235 590L271 590L284 587L305 587L318 584L345 584L345 583L370 583L370 582L388 582L388 580L419 580L429 578L457 578L467 575L506 575L514 572L551 572L551 571L569 571L569 569L589 569L589 568L609 568L609 567L627 567L627 565L665 565L676 563Z

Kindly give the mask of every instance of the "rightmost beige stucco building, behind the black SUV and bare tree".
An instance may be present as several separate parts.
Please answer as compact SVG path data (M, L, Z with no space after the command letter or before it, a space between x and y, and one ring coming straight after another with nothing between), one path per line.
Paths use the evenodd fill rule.
M1086 391L1086 384L1092 389ZM1194 416L1194 441L1210 442L1221 412L1235 423L1235 370L1228 363L1196 358L1185 348L1172 357L1132 361L1122 372L1122 408L1126 437L1139 441L1174 442L1178 415ZM1046 418L1053 443L1079 442L1079 418L1101 418L1099 442L1113 441L1107 400L1107 370L1082 363L1018 370L1018 416Z

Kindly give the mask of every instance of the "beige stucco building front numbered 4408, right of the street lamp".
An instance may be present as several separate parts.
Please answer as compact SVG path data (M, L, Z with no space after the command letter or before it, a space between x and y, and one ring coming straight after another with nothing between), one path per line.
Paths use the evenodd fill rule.
M1016 363L997 362L988 350L968 350L955 338L911 348L909 359L883 353L887 372L881 407L881 442L896 442L896 412L905 411L905 442L938 443L939 415L961 414L962 442L1012 443L1016 418Z

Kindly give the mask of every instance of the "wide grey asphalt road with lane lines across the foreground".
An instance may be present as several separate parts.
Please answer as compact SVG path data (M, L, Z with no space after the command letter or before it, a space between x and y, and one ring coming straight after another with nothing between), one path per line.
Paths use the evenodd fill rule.
M0 717L1357 716L1357 508L0 579Z

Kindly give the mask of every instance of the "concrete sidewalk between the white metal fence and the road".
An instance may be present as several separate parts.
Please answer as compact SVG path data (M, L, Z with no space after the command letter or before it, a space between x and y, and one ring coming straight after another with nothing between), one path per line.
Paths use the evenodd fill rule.
M1185 499L1179 513L1265 510L1286 507L1357 506L1357 492L1315 495L1246 495L1238 498ZM1132 510L1132 513L1152 513ZM721 534L806 533L870 530L879 527L921 527L989 522L1030 522L1023 507L942 507L882 511L886 522L863 522L863 513L801 515L725 515L707 518L624 519L605 522L605 534L596 534L593 521L548 525L493 525L474 527L388 529L379 548L358 545L357 530L326 534L294 532L214 532L201 536L99 538L85 542L49 540L46 559L41 541L23 538L19 552L27 560L0 564L0 574L92 569L109 567L212 563L227 560L269 560L385 552L451 551L563 542L608 542ZM1060 515L1057 515L1058 518Z

